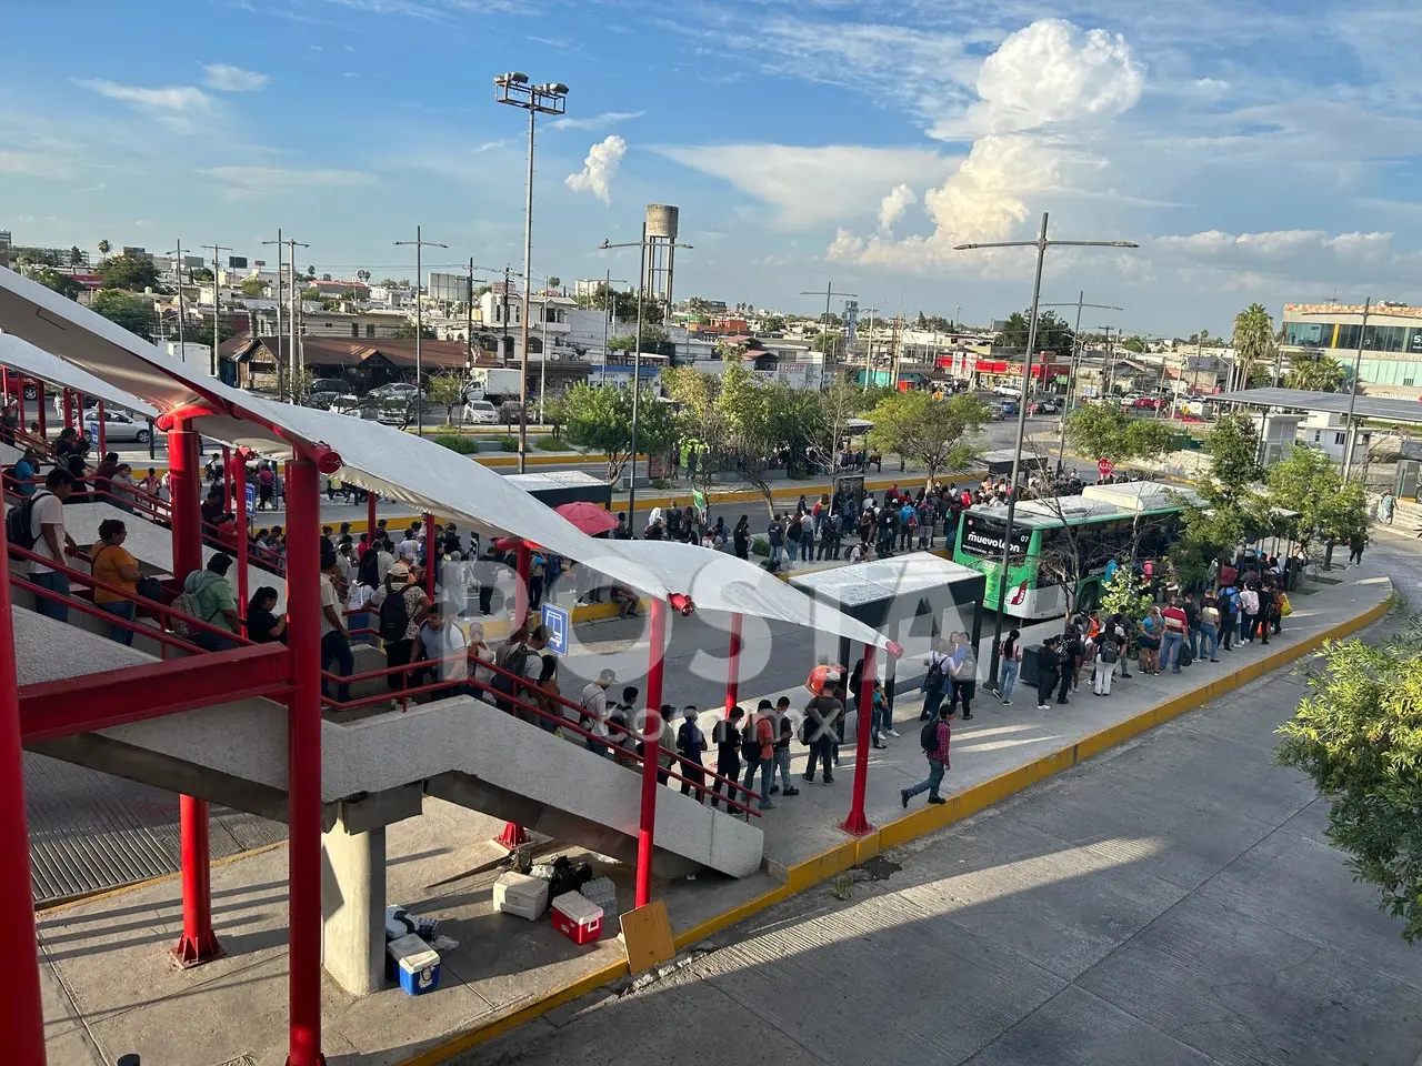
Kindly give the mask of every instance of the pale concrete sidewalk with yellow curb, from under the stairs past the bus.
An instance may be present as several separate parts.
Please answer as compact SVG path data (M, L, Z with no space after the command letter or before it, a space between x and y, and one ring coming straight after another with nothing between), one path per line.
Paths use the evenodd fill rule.
M1220 664L1199 662L1182 675L1138 674L1119 682L1109 699L1084 688L1069 706L1042 714L1025 692L1011 708L981 699L973 722L954 722L951 796L940 807L920 799L904 813L899 803L899 789L926 770L914 701L902 701L903 736L869 759L866 810L877 829L862 840L838 830L853 780L850 742L832 786L799 780L801 796L778 797L775 810L766 812L765 871L742 881L702 876L657 885L678 948L1224 695L1385 611L1391 583L1375 567L1335 571L1328 576L1334 578L1337 584L1317 583L1295 597L1295 613L1267 650L1246 645L1221 655ZM786 661L803 651L792 651ZM805 695L789 694L796 701ZM754 705L748 695L745 702ZM796 746L796 773L803 760ZM388 829L390 901L438 918L441 932L459 947L444 955L441 988L415 999L390 989L356 1001L327 981L324 1050L333 1066L434 1063L493 1032L501 1019L536 1016L626 974L616 940L577 948L547 922L492 912L496 871L469 871L493 857L485 841L495 829L489 819L437 800L425 802L424 817ZM631 871L594 861L619 884L619 903L629 905ZM97 1066L139 1052L162 1066L212 1066L242 1056L257 1066L280 1066L284 880L284 849L213 868L215 921L229 957L188 972L173 971L166 958L181 925L176 878L40 915L51 1060Z

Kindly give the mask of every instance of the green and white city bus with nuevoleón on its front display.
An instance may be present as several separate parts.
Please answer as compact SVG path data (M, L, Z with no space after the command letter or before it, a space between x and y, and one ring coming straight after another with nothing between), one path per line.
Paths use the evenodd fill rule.
M1162 559L1180 533L1180 513L1197 503L1189 489L1160 482L1089 485L1081 496L1051 502L1027 500L1012 513L1012 547L1007 569L1005 613L1027 621L1057 618L1066 613L1068 596L1058 576L1041 573L1044 554L1078 553L1076 610L1101 601L1106 564L1116 559ZM1068 534L1064 527L1078 529ZM958 523L953 561L987 577L983 605L997 610L1007 507L968 507Z

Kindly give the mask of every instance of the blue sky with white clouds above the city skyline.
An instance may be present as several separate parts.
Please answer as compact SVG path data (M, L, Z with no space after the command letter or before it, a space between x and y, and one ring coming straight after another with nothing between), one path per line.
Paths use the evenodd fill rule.
M523 114L492 77L572 87L540 126L536 277L633 277L647 202L681 206L678 291L813 313L799 290L968 321L1030 297L1219 333L1258 300L1422 303L1422 9L1401 0L146 0L13 4L0 229L346 276L522 262ZM555 128L556 125L556 128ZM1098 313L1101 316L1102 313ZM1091 318L1086 324L1098 323Z

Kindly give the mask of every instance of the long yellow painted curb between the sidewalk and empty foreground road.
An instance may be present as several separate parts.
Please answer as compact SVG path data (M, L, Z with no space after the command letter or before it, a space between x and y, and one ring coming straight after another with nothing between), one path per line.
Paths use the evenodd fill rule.
M1092 755L1099 755L1108 748L1113 748L1138 733L1167 722L1172 718L1177 718L1192 708L1207 704L1226 692L1247 685L1250 681L1263 677L1271 669L1277 669L1285 662L1303 658L1328 641L1340 640L1351 632L1371 625L1382 618L1391 605L1391 598L1384 600L1354 618L1341 621L1305 641L1291 644L1287 648L1280 648L1278 651L1266 655L1257 662L1251 662L1229 677L1219 678L1202 689L1179 695L1159 706L1142 711L1139 715L1135 715L1125 722L1118 722L1113 726L1092 733L1091 736L1085 736L1066 748L1052 752L1051 755L1034 759L1025 766L1018 766L1014 770L1008 770L997 777L974 785L956 796L947 797L948 802L941 806L921 807L914 810L912 814L906 814L872 830L859 840L846 840L845 843L836 844L828 851L822 851L812 858L806 858L802 863L786 867L784 871L785 884L779 888L772 888L754 900L737 904L722 914L708 918L700 925L694 925L685 932L674 937L673 944L675 944L677 951L684 951L707 937L744 921L745 918L751 918L778 903L784 903L798 893L813 888L816 884L836 877L853 866L873 858L884 849L904 844L910 840L917 840L930 833L936 833L940 829L951 826L954 822L961 822L963 819L975 814L994 803L1000 803L1017 792L1021 792L1030 785L1035 785L1037 782L1045 780L1055 773L1071 769L1076 763L1089 759ZM589 974L586 978L547 994L538 1002L529 1003L513 1013L469 1029L451 1038L445 1043L421 1052L414 1057L405 1059L400 1063L400 1066L435 1066L437 1063L442 1063L461 1052L466 1052L471 1048L476 1048L478 1045L496 1036L502 1036L523 1022L533 1021L556 1006L562 1006L580 995L593 992L597 988L611 984L626 975L626 961L604 967L594 974Z

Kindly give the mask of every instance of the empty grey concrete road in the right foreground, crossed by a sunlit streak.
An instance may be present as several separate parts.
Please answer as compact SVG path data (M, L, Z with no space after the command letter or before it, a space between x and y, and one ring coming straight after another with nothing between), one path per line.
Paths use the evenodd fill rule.
M1415 542L1374 560L1422 587ZM1413 1066L1422 952L1273 766L1287 672L729 930L462 1066L668 1060Z

